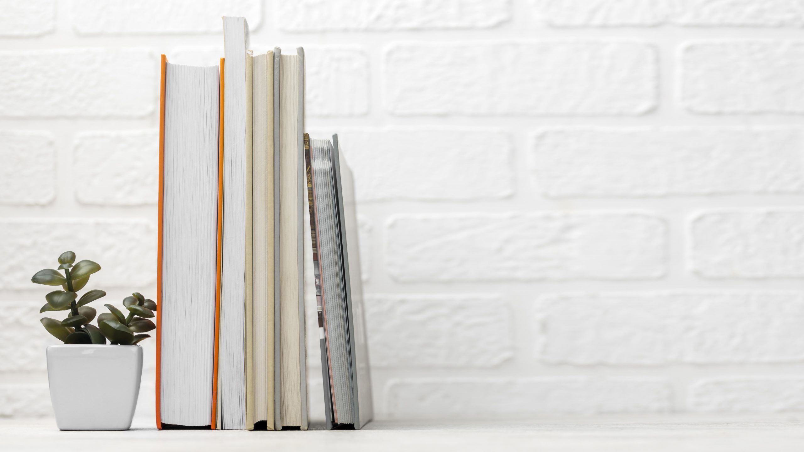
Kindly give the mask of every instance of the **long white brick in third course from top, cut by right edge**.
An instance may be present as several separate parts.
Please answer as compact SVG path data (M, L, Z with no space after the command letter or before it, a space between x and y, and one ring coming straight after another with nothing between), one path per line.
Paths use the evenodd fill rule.
M802 192L802 148L802 129L556 128L533 135L531 168L551 197Z

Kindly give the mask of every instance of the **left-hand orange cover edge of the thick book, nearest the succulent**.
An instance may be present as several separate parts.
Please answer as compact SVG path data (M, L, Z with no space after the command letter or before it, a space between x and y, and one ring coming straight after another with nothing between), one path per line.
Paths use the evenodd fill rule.
M165 73L167 57L162 55L162 80L159 85L159 212L158 212L158 238L156 257L156 428L162 429L162 197L165 187Z

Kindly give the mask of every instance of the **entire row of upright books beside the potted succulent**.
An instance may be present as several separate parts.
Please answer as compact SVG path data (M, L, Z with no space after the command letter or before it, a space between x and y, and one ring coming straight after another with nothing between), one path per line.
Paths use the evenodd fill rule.
M305 57L248 50L224 17L219 66L162 55L156 421L307 429L306 306L327 428L372 417L351 171L305 133Z

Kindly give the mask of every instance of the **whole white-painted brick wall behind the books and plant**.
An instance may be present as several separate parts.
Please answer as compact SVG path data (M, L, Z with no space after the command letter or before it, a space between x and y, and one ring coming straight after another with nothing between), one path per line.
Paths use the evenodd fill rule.
M158 55L218 64L222 14L305 46L351 161L378 417L804 411L804 2L0 10L0 416L51 413L35 271L154 296Z

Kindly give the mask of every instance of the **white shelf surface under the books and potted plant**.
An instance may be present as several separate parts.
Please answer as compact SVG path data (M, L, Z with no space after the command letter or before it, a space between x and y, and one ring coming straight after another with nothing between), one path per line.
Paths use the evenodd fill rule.
M0 419L0 450L804 450L804 414L544 417L529 421L376 421L365 429L242 432L154 429L59 431L55 421Z

